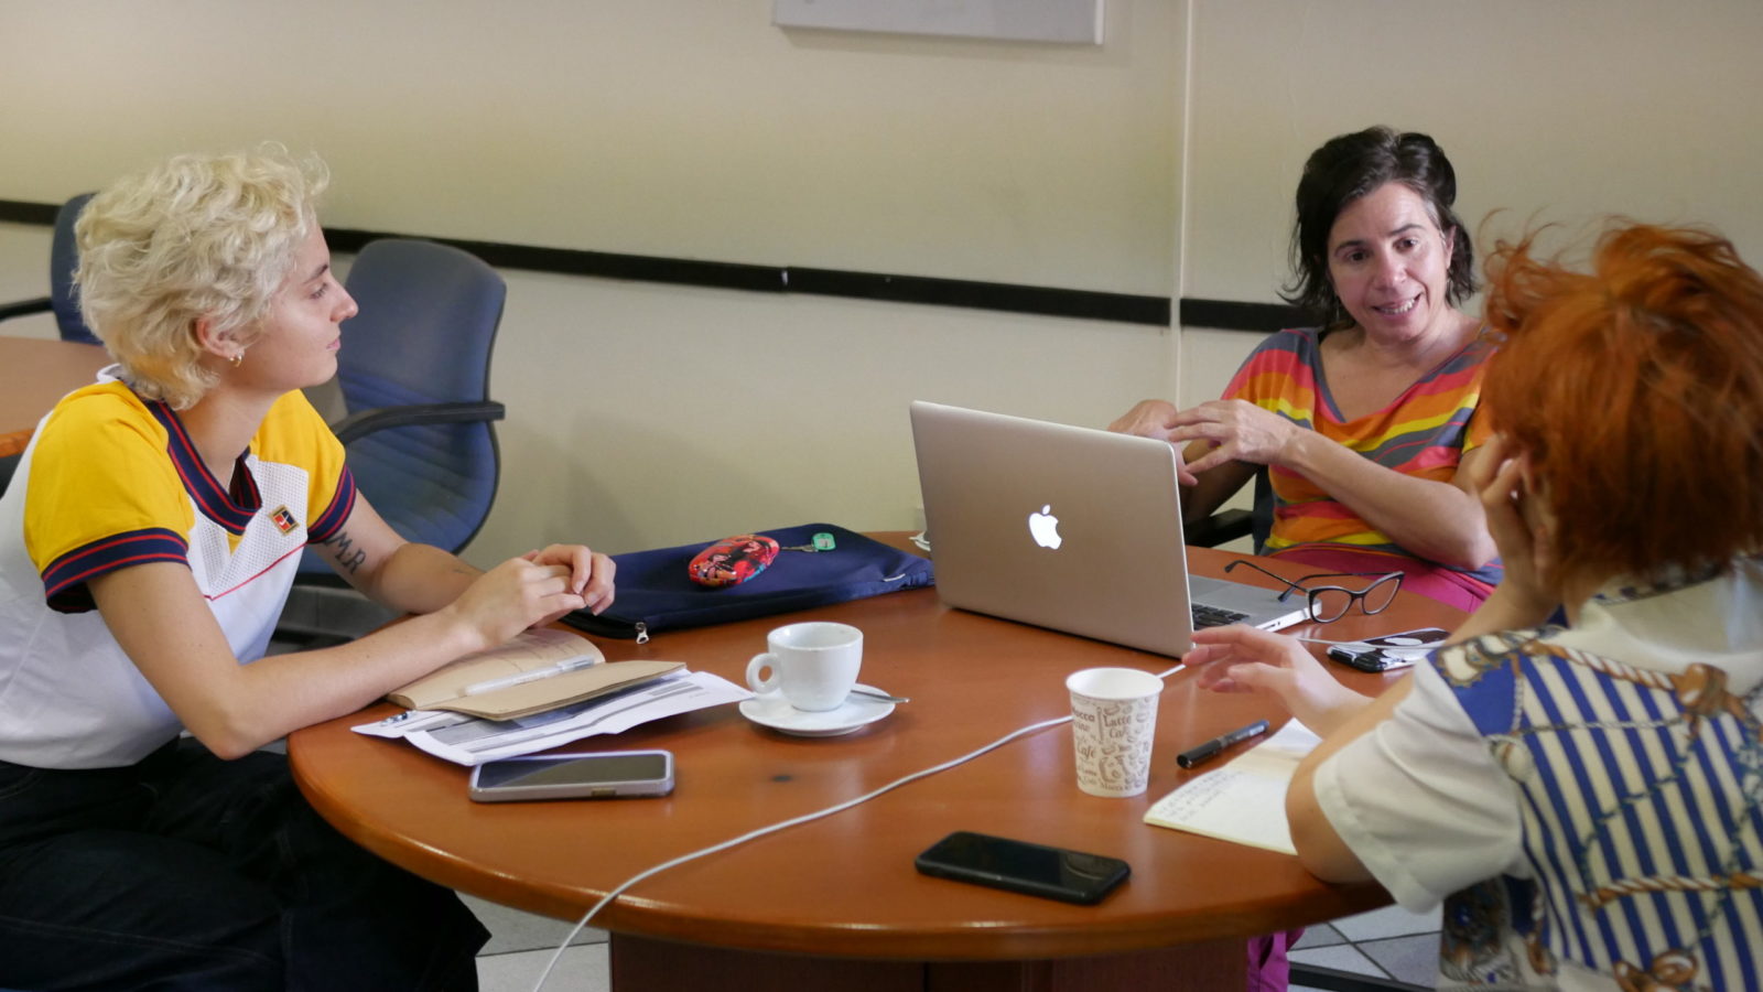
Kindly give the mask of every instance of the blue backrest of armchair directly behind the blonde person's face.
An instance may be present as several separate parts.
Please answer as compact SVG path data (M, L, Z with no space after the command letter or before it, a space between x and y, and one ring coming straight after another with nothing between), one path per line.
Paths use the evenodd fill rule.
M488 399L508 288L483 259L434 242L370 242L349 268L361 311L342 325L337 383L349 415ZM407 540L458 551L478 533L501 471L488 422L388 427L349 443L349 470ZM307 554L303 574L330 572Z

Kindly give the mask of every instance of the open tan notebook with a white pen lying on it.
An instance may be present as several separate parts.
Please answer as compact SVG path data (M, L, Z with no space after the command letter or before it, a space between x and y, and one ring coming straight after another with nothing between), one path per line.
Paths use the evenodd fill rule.
M577 660L589 664L520 685L465 695L469 685ZM465 655L388 692L386 699L407 710L451 710L490 720L511 720L640 685L682 667L682 662L606 662L599 648L587 637L545 627L527 630L488 651Z

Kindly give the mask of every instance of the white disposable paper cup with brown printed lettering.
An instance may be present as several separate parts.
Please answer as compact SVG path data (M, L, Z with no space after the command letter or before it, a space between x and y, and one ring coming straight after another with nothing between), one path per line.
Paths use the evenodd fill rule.
M1151 780L1151 738L1164 680L1139 669L1084 669L1072 694L1077 787L1091 796L1137 796Z

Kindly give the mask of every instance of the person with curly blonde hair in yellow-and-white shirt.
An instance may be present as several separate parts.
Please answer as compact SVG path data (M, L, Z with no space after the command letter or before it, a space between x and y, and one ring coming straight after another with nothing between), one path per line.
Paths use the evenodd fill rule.
M116 358L0 500L0 985L472 988L483 928L330 830L257 750L465 653L612 602L552 545L487 574L402 540L300 392L337 371L316 159L180 155L76 237ZM300 552L418 614L264 657Z

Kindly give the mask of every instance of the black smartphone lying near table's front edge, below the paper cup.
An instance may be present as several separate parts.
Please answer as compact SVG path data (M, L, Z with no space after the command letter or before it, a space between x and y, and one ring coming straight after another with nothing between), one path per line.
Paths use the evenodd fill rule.
M1093 904L1132 868L1120 858L957 830L913 861L926 876Z

